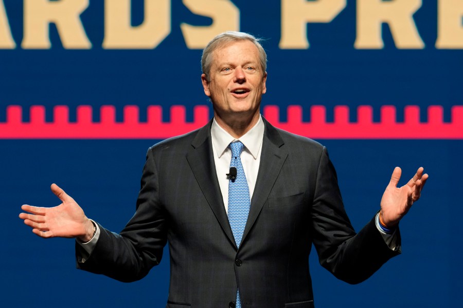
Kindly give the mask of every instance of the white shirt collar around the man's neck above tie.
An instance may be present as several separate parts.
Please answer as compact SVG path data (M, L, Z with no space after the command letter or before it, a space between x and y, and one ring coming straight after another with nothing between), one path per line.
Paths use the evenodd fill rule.
M239 140L244 144L244 147L248 152L251 153L254 159L257 159L257 155L263 140L264 129L265 125L262 121L262 117L259 117L259 120L257 121L256 125L253 126L253 128L241 136L240 139L235 139L228 132L226 132L225 129L220 127L214 118L210 128L212 145L215 147L217 156L220 158L227 150L228 145L231 142Z

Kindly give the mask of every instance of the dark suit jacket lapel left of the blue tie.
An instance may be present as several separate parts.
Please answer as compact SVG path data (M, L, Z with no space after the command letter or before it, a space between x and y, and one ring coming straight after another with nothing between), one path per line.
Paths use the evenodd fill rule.
M229 241L233 243L236 248L235 239L225 212L219 181L217 180L217 171L210 137L211 123L212 122L209 122L198 131L197 136L191 143L192 148L188 151L186 158L210 208Z

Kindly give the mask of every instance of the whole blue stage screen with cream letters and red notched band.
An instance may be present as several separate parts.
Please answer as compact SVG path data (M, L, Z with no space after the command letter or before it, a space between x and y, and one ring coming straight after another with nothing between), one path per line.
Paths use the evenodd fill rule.
M430 179L400 222L402 254L359 285L308 260L317 307L457 307L462 298L463 1L0 0L2 307L163 307L169 251L143 280L76 269L22 204L60 185L119 232L147 149L212 117L201 53L226 30L262 38L261 114L327 146L360 230L395 166Z

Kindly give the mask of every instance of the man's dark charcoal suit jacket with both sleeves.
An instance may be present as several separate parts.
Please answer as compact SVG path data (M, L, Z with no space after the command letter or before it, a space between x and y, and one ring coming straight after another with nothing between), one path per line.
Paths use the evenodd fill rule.
M135 215L119 235L100 225L94 251L77 266L138 280L161 261L169 242L167 307L225 308L239 287L243 308L303 308L313 307L312 243L320 264L349 283L367 279L398 254L387 247L374 219L354 232L324 146L264 124L239 249L217 179L209 122L148 150Z

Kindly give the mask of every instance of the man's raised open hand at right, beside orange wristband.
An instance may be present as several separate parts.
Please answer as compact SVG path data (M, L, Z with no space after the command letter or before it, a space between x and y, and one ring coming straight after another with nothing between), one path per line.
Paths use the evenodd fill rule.
M420 199L421 190L426 180L428 180L428 175L423 175L423 170L423 167L418 168L413 178L406 185L399 188L397 184L402 170L399 167L394 169L381 199L380 219L385 226L396 226L402 217L407 214L413 203Z

